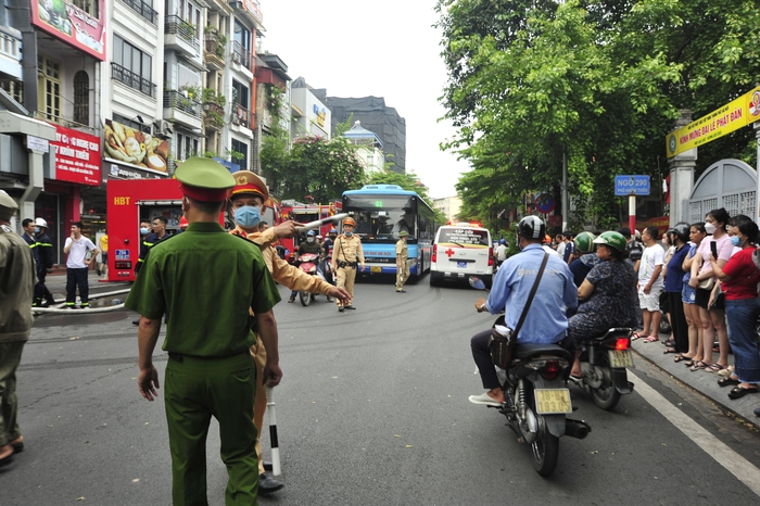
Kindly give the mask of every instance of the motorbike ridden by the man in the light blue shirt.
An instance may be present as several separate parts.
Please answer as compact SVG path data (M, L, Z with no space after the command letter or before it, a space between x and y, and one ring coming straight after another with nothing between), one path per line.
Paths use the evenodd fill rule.
M470 278L470 284L485 288L478 278ZM533 468L543 477L557 467L559 438L584 439L591 432L587 422L567 418L572 413L567 385L571 364L570 352L557 344L517 343L507 369L497 369L505 402L495 409L507 418L518 442L530 444Z

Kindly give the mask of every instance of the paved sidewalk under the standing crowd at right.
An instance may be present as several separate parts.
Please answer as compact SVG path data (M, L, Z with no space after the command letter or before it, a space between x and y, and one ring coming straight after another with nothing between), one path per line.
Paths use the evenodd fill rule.
M666 347L662 345L662 341L664 341L664 337L660 336L660 342L656 343L649 343L643 339L638 339L631 343L631 347L642 358L645 358L655 366L667 371L682 383L700 392L706 397L711 399L715 404L736 414L739 418L752 423L760 430L760 417L755 416L755 408L760 407L760 393L745 395L736 400L729 399L729 392L733 385L720 387L718 380L721 379L722 376L715 372L707 372L705 370L692 371L691 368L684 366L683 362L674 363L673 358L675 354L669 353L666 355L663 353ZM715 353L714 356L715 359L718 359L718 353ZM729 354L729 364L733 363L734 355Z

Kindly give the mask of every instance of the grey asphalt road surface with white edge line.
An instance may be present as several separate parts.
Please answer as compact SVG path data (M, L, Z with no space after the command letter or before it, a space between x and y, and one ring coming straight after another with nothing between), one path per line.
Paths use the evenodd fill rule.
M94 290L106 291L112 287ZM359 283L357 311L324 296L276 308L282 383L275 389L286 488L281 505L758 504L760 435L636 357L636 391L607 413L571 389L573 417L593 428L562 438L548 478L532 468L481 393L469 338L494 317L468 287L396 294ZM214 317L210 311L208 317ZM162 391L137 391L135 314L38 317L18 371L26 450L0 468L0 505L170 503ZM162 330L163 332L163 330ZM163 380L166 362L156 351ZM265 430L266 434L266 430ZM268 437L264 437L268 456ZM208 498L224 504L215 422Z

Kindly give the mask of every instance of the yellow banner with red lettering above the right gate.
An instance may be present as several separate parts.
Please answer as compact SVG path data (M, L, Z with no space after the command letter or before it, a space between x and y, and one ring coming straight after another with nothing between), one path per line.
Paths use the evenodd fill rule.
M666 137L668 157L760 121L760 86Z

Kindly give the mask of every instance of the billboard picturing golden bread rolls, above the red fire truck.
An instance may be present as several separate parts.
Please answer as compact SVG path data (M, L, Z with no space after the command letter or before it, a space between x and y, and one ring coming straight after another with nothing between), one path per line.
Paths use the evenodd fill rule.
M125 169L136 168L140 173L168 176L167 166L172 153L168 140L122 125L112 119L105 121L103 135L103 159ZM114 175L113 170L109 173ZM138 173L135 173L138 174ZM126 178L136 177L127 175Z

